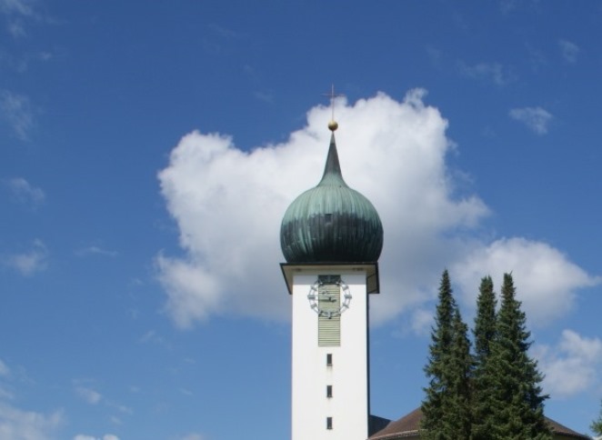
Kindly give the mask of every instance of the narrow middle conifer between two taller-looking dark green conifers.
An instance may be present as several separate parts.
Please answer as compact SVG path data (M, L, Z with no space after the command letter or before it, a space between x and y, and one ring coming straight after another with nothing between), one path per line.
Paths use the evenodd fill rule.
M493 395L495 377L491 376L487 367L491 344L496 338L496 294L493 289L491 276L481 280L479 295L477 297L477 316L475 317L475 372L473 377L472 410L473 425L472 438L474 440L487 440L491 438L491 425L493 423Z

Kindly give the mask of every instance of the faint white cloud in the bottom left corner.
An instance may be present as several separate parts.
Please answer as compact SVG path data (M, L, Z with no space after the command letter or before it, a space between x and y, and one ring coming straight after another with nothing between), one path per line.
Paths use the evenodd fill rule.
M61 411L45 415L24 411L0 402L0 438L11 440L45 440L54 438L55 429L65 423Z

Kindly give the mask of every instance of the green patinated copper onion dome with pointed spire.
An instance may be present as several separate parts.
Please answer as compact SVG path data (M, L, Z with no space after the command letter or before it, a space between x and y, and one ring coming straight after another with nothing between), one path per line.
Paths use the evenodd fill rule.
M370 201L343 180L334 133L322 180L286 209L280 245L287 263L378 260L383 225Z

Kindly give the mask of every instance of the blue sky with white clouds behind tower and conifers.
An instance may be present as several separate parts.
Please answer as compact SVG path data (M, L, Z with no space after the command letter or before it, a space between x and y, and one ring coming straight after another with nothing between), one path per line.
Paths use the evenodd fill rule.
M282 439L286 206L335 84L385 228L372 412L419 405L438 278L515 275L547 415L602 397L602 5L0 0L0 436Z

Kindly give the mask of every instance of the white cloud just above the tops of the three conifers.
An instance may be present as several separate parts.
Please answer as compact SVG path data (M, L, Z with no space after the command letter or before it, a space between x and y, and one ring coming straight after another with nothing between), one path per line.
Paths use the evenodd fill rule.
M538 326L570 311L577 289L600 281L554 247L519 237L479 246L451 268L452 281L460 285L469 305L475 304L483 276L491 275L499 287L507 272L512 272L529 324Z

